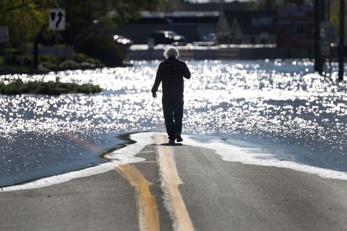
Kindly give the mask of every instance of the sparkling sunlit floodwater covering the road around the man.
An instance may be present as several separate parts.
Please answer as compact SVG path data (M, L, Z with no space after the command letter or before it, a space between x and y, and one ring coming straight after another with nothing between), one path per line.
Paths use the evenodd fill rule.
M276 158L347 171L347 85L336 81L337 64L331 77L314 73L309 60L187 64L184 133L246 141L271 147ZM124 142L119 134L164 131L161 92L150 94L158 65L59 72L62 82L99 84L99 94L0 95L0 186L105 162L101 155Z

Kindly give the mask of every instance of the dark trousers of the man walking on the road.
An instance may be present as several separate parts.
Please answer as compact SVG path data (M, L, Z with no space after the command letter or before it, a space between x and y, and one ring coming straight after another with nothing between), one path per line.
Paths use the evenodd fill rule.
M175 134L181 135L182 131L183 96L172 97L163 95L162 103L166 132L169 140L174 141L176 139Z

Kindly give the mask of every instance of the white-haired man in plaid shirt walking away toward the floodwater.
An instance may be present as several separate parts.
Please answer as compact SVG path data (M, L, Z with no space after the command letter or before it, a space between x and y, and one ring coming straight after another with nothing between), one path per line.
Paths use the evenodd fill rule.
M157 97L157 91L162 82L163 88L163 112L169 143L182 142L182 118L183 118L183 89L184 81L190 78L187 65L177 59L179 52L170 47L164 52L166 60L160 63L157 76L152 88L153 98Z

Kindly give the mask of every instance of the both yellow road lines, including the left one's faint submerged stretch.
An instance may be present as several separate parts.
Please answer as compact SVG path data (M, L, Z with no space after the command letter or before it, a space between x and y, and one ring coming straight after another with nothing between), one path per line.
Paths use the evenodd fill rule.
M100 149L73 136L72 134L62 134L94 151L101 152ZM155 142L157 144L165 143L166 139L164 135L157 134L155 135ZM162 179L162 189L165 198L168 199L166 202L170 207L169 213L171 213L171 216L174 219L174 230L194 231L193 224L178 189L178 185L182 184L182 180L179 178L177 173L173 148L170 146L157 145L156 151L156 162ZM121 163L118 160L112 159L110 155L105 155L105 158L117 164L114 167L114 170L125 178L135 189L135 200L140 231L159 231L159 213L155 198L149 190L150 182L146 180L145 176L134 164Z

